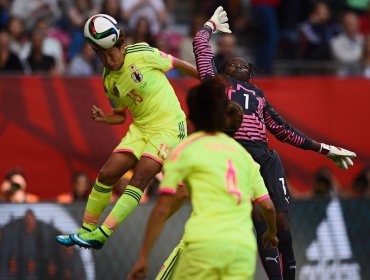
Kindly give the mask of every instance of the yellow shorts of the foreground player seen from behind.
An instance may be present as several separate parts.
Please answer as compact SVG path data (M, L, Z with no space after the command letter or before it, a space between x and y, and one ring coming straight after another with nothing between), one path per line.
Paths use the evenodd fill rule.
M252 280L256 249L216 242L185 243L172 280Z

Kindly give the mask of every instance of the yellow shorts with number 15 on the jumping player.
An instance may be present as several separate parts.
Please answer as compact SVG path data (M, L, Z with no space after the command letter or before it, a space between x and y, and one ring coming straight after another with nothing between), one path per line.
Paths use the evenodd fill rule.
M129 152L138 159L147 156L163 164L169 152L187 135L186 121L157 131L143 130L132 123L114 153Z

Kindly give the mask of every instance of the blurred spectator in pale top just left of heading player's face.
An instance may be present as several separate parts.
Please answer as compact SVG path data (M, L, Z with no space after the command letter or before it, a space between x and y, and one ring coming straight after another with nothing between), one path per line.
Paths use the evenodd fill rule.
M101 63L96 60L95 51L85 42L81 51L69 63L67 74L72 76L90 76L101 73Z

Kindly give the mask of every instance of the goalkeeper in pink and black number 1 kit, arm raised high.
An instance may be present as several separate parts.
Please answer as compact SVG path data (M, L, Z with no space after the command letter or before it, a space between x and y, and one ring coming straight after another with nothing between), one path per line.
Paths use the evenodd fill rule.
M283 120L266 99L263 91L251 83L254 66L243 58L234 57L225 61L218 73L209 44L209 39L215 32L231 33L227 14L222 7L216 9L212 18L204 24L194 38L193 50L198 73L203 81L218 74L225 76L229 83L227 91L229 99L239 103L244 110L243 123L234 138L260 164L261 175L277 212L279 247L278 250L266 249L262 244L262 234L266 225L261 218L259 207L254 207L253 221L261 261L269 279L295 279L296 261L288 215L289 190L281 160L276 151L269 149L266 130L279 141L327 156L342 169L348 169L353 165L351 159L355 158L356 154L333 145L318 143Z

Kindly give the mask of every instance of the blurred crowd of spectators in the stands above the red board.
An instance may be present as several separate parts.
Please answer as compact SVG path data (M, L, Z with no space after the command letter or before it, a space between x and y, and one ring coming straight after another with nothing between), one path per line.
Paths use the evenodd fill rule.
M194 30L218 5L234 33L214 40L216 62L241 55L256 64L258 75L370 78L368 0L2 0L0 73L100 74L83 38L84 22L96 13L118 20L126 44L146 41L194 63Z

